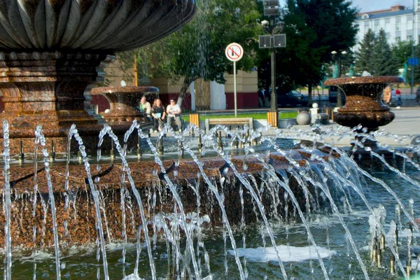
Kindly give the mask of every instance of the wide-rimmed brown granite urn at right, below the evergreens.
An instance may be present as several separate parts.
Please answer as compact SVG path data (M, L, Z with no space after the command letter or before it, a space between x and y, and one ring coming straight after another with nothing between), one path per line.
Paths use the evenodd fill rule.
M382 103L382 91L391 83L403 82L401 77L365 76L328 79L324 85L337 85L346 94L345 106L334 114L335 122L346 127L362 125L368 131L375 131L395 118L388 106Z

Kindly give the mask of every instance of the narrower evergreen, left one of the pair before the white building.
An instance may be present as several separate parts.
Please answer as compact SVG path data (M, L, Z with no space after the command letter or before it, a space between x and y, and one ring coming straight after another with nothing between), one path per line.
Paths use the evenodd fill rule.
M374 33L372 30L367 30L363 40L360 43L358 52L356 52L356 70L360 73L367 71L373 72L373 48L374 48Z

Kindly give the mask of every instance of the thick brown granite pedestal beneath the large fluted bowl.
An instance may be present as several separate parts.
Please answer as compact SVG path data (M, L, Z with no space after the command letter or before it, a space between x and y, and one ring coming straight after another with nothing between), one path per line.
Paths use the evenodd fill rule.
M114 59L101 52L0 52L0 118L8 121L12 154L21 142L34 151L37 125L57 152L65 151L72 124L86 141L97 138L106 122L90 109L90 88L104 80L104 66Z

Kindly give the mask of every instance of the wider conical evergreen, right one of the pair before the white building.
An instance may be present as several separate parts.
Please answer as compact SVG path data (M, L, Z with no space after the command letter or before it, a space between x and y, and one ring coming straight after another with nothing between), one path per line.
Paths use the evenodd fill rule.
M372 60L372 75L393 76L398 74L398 66L396 66L391 46L386 40L384 29L379 31L378 37L374 41Z

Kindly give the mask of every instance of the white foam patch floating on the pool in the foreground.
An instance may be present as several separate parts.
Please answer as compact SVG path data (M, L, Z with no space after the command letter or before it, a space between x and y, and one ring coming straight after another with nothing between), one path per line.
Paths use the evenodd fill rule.
M295 247L279 245L276 246L281 261L283 262L303 262L304 260L318 259L314 246ZM321 258L328 258L337 253L337 251L330 251L328 248L317 247ZM276 261L277 255L274 247L258 247L258 248L238 248L239 257L246 257L247 260L253 262L269 262ZM233 251L229 250L230 255Z

